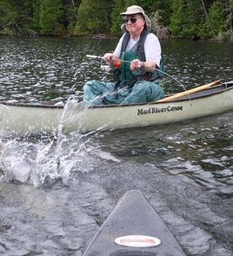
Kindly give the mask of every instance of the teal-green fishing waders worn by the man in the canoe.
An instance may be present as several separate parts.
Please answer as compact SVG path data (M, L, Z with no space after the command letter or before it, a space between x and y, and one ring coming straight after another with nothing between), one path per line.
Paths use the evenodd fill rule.
M138 59L132 50L123 53L122 59L132 61ZM159 80L153 81L156 72L150 73L149 81L143 70L132 72L130 63L122 62L120 66L118 85L100 81L88 81L84 84L83 101L91 105L130 104L152 102L164 98L164 90L159 86Z

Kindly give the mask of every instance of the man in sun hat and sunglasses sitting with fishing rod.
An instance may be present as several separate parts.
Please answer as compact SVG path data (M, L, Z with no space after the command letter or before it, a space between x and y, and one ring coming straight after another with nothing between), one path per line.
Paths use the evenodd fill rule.
M159 86L161 47L150 33L151 22L138 5L126 9L123 15L124 35L113 53L106 53L107 62L116 75L116 84L89 81L84 85L83 100L92 105L130 104L164 98ZM119 61L120 59L120 61Z

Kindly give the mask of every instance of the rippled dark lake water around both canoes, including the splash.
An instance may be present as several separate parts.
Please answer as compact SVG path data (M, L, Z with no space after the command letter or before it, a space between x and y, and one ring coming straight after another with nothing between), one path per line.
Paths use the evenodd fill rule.
M117 39L0 37L0 100L82 97L107 81ZM186 88L233 80L233 44L162 41ZM167 93L183 87L165 79ZM123 194L139 189L187 255L233 254L233 112L129 130L1 136L0 254L81 255Z

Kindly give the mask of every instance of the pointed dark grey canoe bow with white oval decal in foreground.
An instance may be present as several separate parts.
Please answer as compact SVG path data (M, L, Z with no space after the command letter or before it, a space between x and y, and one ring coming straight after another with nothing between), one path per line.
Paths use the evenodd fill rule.
M185 255L171 230L139 190L125 194L83 254L120 255Z

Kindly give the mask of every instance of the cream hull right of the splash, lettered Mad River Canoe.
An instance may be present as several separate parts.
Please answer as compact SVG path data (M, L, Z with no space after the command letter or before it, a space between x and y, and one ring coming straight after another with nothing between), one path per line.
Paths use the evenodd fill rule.
M83 114L81 126L78 120L75 120L74 123L79 123L76 130L81 129L82 132L123 129L173 123L222 113L231 109L233 109L232 87L218 93L174 102L87 108ZM73 117L75 119L75 113Z

